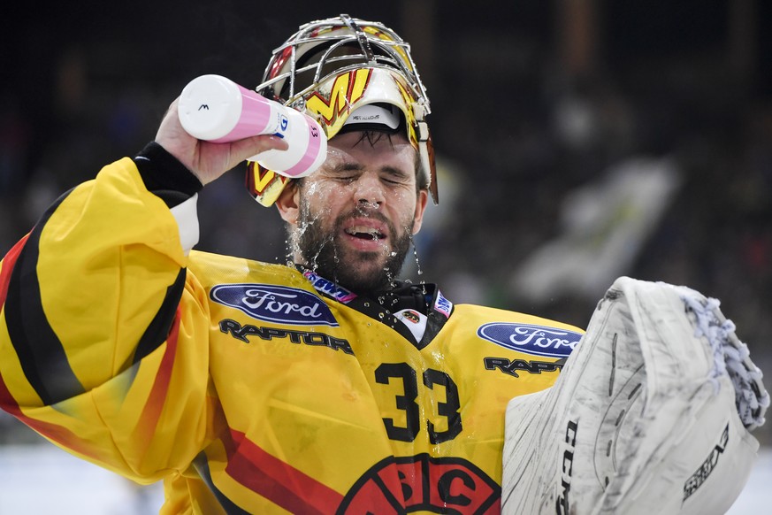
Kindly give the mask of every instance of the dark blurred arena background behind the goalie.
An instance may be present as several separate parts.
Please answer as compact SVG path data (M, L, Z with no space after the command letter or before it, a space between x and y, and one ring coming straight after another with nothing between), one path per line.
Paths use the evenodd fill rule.
M579 326L619 275L685 284L722 300L772 378L764 0L4 5L0 253L60 193L149 142L187 81L220 73L255 86L300 24L340 12L411 42L432 100L441 202L408 276L456 303ZM283 262L279 217L248 197L241 173L204 190L199 248ZM768 453L772 424L756 436ZM62 491L88 486L36 468L42 453L59 463L49 450L0 412L0 477L52 470ZM0 480L0 512L15 512L4 500L25 484Z

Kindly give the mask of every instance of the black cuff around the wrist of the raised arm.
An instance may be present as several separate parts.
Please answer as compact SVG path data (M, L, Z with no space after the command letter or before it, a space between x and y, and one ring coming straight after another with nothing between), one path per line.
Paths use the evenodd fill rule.
M202 190L198 178L157 142L148 143L134 158L145 188L170 208Z

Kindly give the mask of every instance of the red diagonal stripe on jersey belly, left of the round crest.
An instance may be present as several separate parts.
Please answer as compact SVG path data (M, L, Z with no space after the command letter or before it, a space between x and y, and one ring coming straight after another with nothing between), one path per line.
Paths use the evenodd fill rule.
M292 513L333 513L343 500L338 492L271 456L245 434L231 429L236 450L225 472L241 485Z

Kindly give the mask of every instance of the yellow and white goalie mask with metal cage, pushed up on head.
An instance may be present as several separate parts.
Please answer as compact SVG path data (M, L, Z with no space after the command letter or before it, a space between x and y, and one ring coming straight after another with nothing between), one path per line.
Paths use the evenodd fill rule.
M409 44L383 25L346 14L313 21L273 51L257 93L316 119L328 140L348 130L404 131L417 150L419 188L438 202L429 99ZM247 189L270 206L291 181L248 161Z

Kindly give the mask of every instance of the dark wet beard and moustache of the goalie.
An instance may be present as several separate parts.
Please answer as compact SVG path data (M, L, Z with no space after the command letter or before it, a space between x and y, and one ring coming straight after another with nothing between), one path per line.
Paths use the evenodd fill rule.
M386 217L379 213L369 212L367 216L378 219L386 224L393 243L391 250L379 252L364 252L343 248L338 242L342 234L343 223L355 216L362 216L362 211L352 211L335 219L332 231L325 232L320 227L319 219L313 217L308 209L301 209L298 219L299 235L296 239L297 249L314 272L344 288L356 293L373 292L388 288L396 279L402 268L402 263L410 248L413 220L398 234ZM386 245L386 244L384 244ZM378 265L386 254L386 261Z

